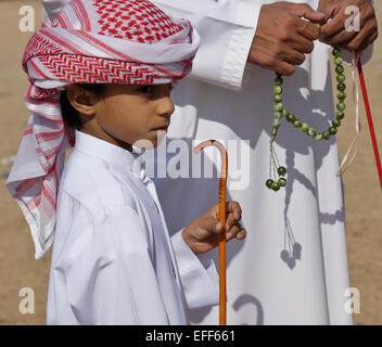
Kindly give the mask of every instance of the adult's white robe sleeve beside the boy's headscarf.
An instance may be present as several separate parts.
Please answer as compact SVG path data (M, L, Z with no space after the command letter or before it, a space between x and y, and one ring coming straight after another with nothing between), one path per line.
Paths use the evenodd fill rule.
M189 20L202 38L191 78L240 90L262 1L155 0L166 13Z

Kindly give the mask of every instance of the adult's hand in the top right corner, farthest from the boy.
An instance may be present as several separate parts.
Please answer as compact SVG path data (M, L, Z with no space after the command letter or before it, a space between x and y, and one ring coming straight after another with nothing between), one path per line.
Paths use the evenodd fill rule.
M359 9L359 31L347 31L345 22L352 14L345 14L349 5ZM321 28L320 41L336 44L352 52L361 52L378 37L375 12L370 0L320 0L318 10L332 18Z

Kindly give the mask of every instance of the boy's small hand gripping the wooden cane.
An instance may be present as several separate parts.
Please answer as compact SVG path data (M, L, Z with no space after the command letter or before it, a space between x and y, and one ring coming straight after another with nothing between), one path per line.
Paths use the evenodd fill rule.
M219 206L215 205L183 230L183 240L194 254L206 253L219 244L219 234L224 232L224 228L218 214ZM239 203L226 203L226 240L230 241L233 237L243 240L246 231L239 223L241 219Z

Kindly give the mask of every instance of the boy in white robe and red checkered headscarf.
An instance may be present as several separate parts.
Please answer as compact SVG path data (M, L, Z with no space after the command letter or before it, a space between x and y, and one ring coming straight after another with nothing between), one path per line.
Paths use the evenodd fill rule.
M74 0L29 41L31 116L8 189L36 258L54 235L49 324L184 324L186 305L217 304L217 273L203 254L224 229L217 206L169 239L132 153L166 131L171 82L190 72L198 47L188 22L143 0ZM239 204L227 213L227 239L244 239Z

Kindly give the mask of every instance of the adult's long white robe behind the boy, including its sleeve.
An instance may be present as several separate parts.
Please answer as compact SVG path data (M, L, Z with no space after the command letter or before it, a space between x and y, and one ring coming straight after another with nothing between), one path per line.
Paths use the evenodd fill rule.
M42 2L52 17L66 1ZM167 174L166 179L156 180L156 188L170 230L178 230L217 202L218 180L171 179L179 176L176 164L180 157L189 165L183 169L190 175L195 168L192 140L249 141L238 143L238 153L232 142L228 153L231 177L227 198L240 202L249 232L245 243L228 245L228 324L352 324L352 314L345 309L349 282L335 139L315 142L282 123L276 150L288 167L288 187L278 193L265 187L275 74L246 64L246 60L260 7L276 1L153 2L174 16L191 20L202 38L190 78L173 92L176 112L168 136L184 138L190 145L179 151L181 143L174 142L168 156L177 154L167 168L163 157L156 162L160 171ZM314 9L318 5L318 0L290 2L308 3ZM326 129L334 112L331 54L330 47L315 44L304 64L284 78L283 103L316 129ZM372 47L364 53L362 62L371 54ZM351 62L349 54L344 52L344 57ZM349 88L347 81L348 95ZM214 151L205 150L208 158ZM218 160L215 165L220 166ZM281 259L286 217L295 242L302 246L301 259ZM193 310L190 317L196 324L216 324L218 308Z

